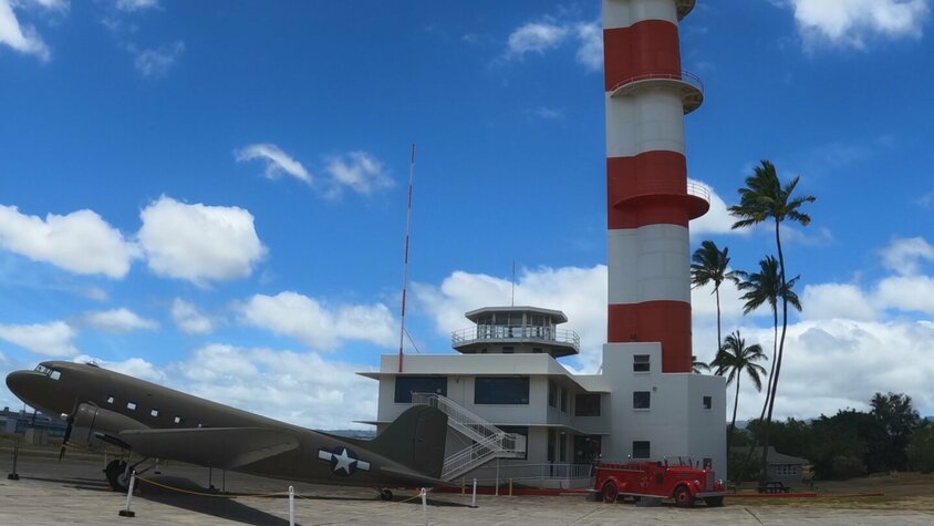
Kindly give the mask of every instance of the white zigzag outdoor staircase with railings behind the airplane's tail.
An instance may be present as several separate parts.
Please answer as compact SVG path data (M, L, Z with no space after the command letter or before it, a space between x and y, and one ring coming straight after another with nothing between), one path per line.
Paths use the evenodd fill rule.
M447 424L474 444L444 461L442 479L452 481L494 458L519 458L526 455L526 437L507 433L485 421L447 396L435 393L412 393L412 403L430 405L447 414Z

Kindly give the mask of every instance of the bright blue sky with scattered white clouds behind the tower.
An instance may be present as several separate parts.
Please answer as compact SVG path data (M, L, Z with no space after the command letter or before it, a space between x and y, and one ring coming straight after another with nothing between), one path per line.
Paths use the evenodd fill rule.
M759 159L817 196L783 233L801 275L779 416L905 392L934 414L928 0L698 1L681 28L704 105L692 247L751 270L767 229L725 207ZM407 352L463 313L561 309L605 340L600 3L0 0L0 369L105 367L309 426L375 416ZM771 347L724 295L725 332ZM709 290L695 353L713 358ZM708 355L709 354L709 355ZM760 394L744 390L739 415ZM0 389L0 405L21 404Z

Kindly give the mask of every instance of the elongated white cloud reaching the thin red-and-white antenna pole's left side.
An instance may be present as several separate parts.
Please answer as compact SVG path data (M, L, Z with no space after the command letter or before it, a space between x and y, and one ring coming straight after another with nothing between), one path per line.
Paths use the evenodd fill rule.
M383 303L329 308L298 292L256 295L240 306L245 323L295 339L310 349L330 351L344 340L392 345L395 322Z

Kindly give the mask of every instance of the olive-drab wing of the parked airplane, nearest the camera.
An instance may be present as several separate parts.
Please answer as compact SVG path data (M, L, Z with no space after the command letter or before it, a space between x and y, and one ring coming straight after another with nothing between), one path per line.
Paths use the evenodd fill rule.
M224 470L252 464L299 446L291 432L267 427L126 430L117 437L143 456Z

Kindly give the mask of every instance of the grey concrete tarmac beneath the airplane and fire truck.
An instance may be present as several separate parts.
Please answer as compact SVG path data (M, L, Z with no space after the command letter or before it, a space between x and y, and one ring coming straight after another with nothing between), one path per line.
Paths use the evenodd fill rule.
M61 463L50 455L20 455L19 481L6 478L9 456L0 452L0 525L52 524L176 524L176 525L288 525L289 502L284 497L228 497L208 489L224 486L228 493L267 494L287 492L290 483L215 470L169 464L162 474L152 471L144 478L173 489L143 482L131 509L135 517L121 517L126 494L107 486L103 457L66 455ZM209 481L210 477L210 481ZM477 497L428 494L423 510L421 498L411 491L395 492L383 502L372 488L292 484L302 498L295 501L295 523L302 525L931 525L934 514L872 509L832 509L793 505L748 506L739 499L719 508L673 505L636 507L629 504L587 502L580 495L553 497ZM204 493L207 495L198 495Z

